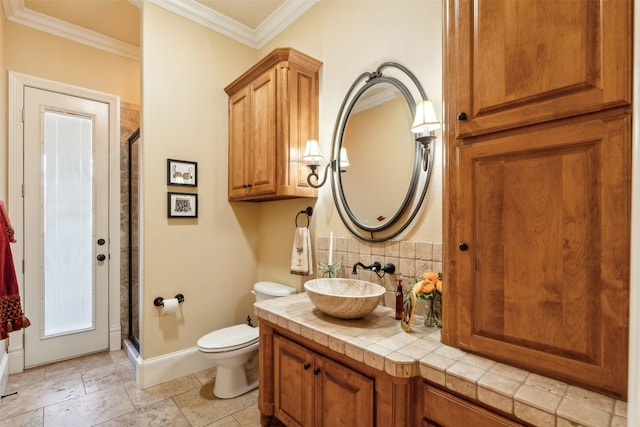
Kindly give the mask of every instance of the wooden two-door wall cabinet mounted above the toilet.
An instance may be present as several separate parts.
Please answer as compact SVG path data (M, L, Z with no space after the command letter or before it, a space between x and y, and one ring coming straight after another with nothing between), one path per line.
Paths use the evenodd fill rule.
M276 49L225 88L229 95L229 200L317 197L301 161L318 138L322 63Z

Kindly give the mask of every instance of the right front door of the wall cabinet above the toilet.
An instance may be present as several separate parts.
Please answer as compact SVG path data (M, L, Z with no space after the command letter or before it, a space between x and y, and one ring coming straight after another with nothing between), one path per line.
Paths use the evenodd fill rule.
M250 87L251 145L246 153L252 161L249 169L249 193L276 192L276 70L258 77Z

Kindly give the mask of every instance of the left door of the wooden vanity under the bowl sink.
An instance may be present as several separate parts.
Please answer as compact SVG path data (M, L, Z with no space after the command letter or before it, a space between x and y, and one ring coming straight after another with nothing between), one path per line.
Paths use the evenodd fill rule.
M287 426L313 425L313 353L274 336L274 415Z

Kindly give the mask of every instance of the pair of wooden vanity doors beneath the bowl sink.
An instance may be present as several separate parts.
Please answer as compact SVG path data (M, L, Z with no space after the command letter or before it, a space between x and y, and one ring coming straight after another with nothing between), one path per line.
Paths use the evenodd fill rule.
M274 337L275 416L288 426L370 427L374 381Z

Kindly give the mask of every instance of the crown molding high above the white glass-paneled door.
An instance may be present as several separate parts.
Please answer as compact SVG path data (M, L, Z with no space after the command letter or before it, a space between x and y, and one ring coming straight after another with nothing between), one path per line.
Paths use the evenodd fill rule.
M138 46L34 12L24 6L23 0L2 0L2 4L7 19L11 22L129 59L140 60L140 48Z

